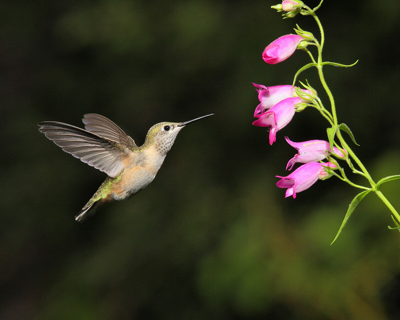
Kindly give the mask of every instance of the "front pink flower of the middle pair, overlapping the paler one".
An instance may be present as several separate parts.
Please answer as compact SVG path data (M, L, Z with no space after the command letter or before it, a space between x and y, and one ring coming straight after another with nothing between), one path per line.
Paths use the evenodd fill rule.
M276 141L276 132L290 122L295 111L294 105L299 102L301 102L301 98L299 97L285 98L272 106L268 111L254 115L258 117L253 122L254 125L271 127L269 130L269 144L272 145Z

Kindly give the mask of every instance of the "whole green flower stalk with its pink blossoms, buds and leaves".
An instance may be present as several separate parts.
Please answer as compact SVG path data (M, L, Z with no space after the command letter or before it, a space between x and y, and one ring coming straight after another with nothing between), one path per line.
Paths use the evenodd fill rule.
M260 104L257 106L254 112L254 116L258 119L255 120L253 124L270 127L269 143L272 144L276 140L276 131L287 125L295 112L300 112L307 106L316 108L330 125L330 127L328 127L326 130L328 141L309 140L304 142L292 142L285 137L286 141L298 150L298 153L287 163L286 169L290 170L296 162L305 164L302 164L285 177L277 176L280 178L280 180L276 185L278 187L287 188L285 197L292 195L294 198L296 196L296 192L300 192L309 188L318 179L326 179L327 177L334 175L351 186L362 189L363 191L358 193L351 201L344 220L334 240L336 240L337 236L340 234L343 226L347 222L347 219L350 217L356 205L366 194L371 191L382 200L382 202L392 213L393 221L397 227L389 228L398 229L400 231L400 214L379 190L380 184L390 180L400 179L400 174L384 177L378 182L375 182L368 170L363 165L362 161L350 148L341 133L342 131L346 132L352 141L357 144L351 130L347 127L347 125L344 123L339 124L338 122L335 100L324 78L323 66L332 65L349 67L354 65L357 61L350 65L323 61L322 50L325 43L325 34L322 24L315 13L315 11L321 6L322 2L323 0L321 0L313 9L309 8L299 0L284 0L282 4L272 6L272 8L276 9L278 12L282 12L283 18L292 18L298 13L301 15L311 15L318 25L320 40L318 41L311 32L303 30L297 25L296 29L294 29L296 34L283 35L271 42L265 48L262 57L264 61L269 64L275 64L284 61L296 50L303 50L307 52L311 63L302 66L295 73L293 84L291 86L281 85L266 87L263 85L254 84L258 92ZM316 59L310 51L312 47L316 47ZM306 85L300 82L300 84L304 87L301 89L294 86L300 73L311 67L315 67L317 70L319 81L321 82L329 100L330 110L323 106L322 100L319 98L316 91L308 84L308 82L306 82ZM335 158L338 160L344 160L353 173L364 176L370 186L363 186L350 181L344 173L344 169L338 164ZM354 167L351 159L355 162L359 169ZM324 160L326 160L326 162ZM334 170L338 170L340 174L334 172ZM399 223L397 223L394 218Z

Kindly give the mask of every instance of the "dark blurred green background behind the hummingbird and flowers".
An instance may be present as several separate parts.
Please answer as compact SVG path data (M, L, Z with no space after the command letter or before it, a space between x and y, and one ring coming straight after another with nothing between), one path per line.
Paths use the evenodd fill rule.
M397 1L325 1L325 60L338 117L377 180L399 174ZM310 6L317 1L306 2ZM384 3L384 4L383 4ZM284 198L295 151L325 138L314 109L268 144L251 82L290 84L304 52L268 65L263 48L295 23L274 1L3 1L0 19L1 319L395 319L399 234L369 194L337 178ZM315 70L302 73L327 105ZM160 121L182 130L133 198L74 215L105 175L37 131L103 114L138 144ZM348 175L357 183L362 179ZM400 208L398 181L381 190Z

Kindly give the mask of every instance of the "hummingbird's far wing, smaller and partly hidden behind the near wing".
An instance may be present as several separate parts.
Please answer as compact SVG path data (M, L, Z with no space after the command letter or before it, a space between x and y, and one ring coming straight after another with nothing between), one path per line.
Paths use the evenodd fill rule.
M87 131L93 132L98 136L114 140L120 145L129 148L137 146L129 135L105 116L96 113L87 113L83 115L82 122Z

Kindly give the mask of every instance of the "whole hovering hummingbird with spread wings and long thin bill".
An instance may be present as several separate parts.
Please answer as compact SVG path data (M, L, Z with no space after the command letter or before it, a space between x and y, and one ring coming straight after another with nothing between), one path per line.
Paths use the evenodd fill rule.
M83 221L95 208L113 200L122 200L149 184L161 167L178 132L187 124L213 115L203 115L186 122L160 122L147 132L144 143L134 140L103 115L87 113L85 129L56 121L39 122L39 131L62 150L107 174L105 181L75 216Z

